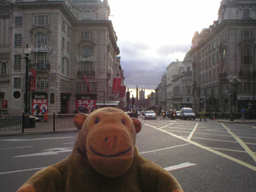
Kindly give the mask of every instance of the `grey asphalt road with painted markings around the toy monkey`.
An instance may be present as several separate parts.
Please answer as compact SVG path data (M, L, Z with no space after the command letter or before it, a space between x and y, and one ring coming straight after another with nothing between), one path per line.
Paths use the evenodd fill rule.
M0 137L0 191L66 158L78 132ZM256 191L256 124L142 119L140 154L169 170L184 191Z

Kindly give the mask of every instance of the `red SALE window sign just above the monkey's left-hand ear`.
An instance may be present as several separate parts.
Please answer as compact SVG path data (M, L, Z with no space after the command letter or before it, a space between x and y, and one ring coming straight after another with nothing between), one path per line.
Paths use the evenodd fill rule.
M96 109L97 100L92 99L79 99L76 100L75 106L78 112L90 113L92 110Z

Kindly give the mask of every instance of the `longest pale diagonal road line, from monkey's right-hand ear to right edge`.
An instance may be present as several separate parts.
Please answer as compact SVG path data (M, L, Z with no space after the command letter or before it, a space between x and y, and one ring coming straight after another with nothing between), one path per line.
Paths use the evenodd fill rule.
M146 126L151 126L151 125L148 125L148 124L145 124ZM158 128L156 128L155 126L151 126L152 128L154 128L155 130L159 130ZM182 138L181 136L178 136L177 134L173 134L173 133L170 133L166 130L160 130L162 131L163 133L166 133L166 134L170 134L171 136L173 136L174 138L179 138L181 140L183 140L184 142L190 142L191 144L193 144L194 146L198 146L200 148L202 148L203 150L208 150L210 151L211 153L214 153L214 154L218 154L219 156L221 156L222 158L227 158L227 159L230 159L231 161L233 162L236 162L242 166L246 166L247 168L249 168L250 170L254 170L256 171L256 166L252 166L250 165L249 163L246 163L246 162L242 162L241 160L237 159L237 158L233 158L227 154L223 154L217 150L213 150L213 149L210 149L209 147L207 146L202 146L201 144L199 144L198 142L193 142L191 140L188 140L187 138Z

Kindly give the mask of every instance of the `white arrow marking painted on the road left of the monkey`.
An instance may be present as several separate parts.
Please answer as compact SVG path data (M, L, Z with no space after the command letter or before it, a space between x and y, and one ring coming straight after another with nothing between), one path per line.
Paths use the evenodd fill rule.
M22 155L14 156L14 158L26 158L26 157L62 154L62 153L72 152L72 150L73 150L73 147L54 148L49 150L42 150L41 153L36 153L36 154L22 154Z

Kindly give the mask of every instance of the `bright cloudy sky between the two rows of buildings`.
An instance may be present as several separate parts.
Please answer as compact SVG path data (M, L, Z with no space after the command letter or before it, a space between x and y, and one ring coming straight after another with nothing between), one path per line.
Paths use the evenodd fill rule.
M155 90L171 62L182 61L194 32L218 20L221 0L109 0L126 88Z

